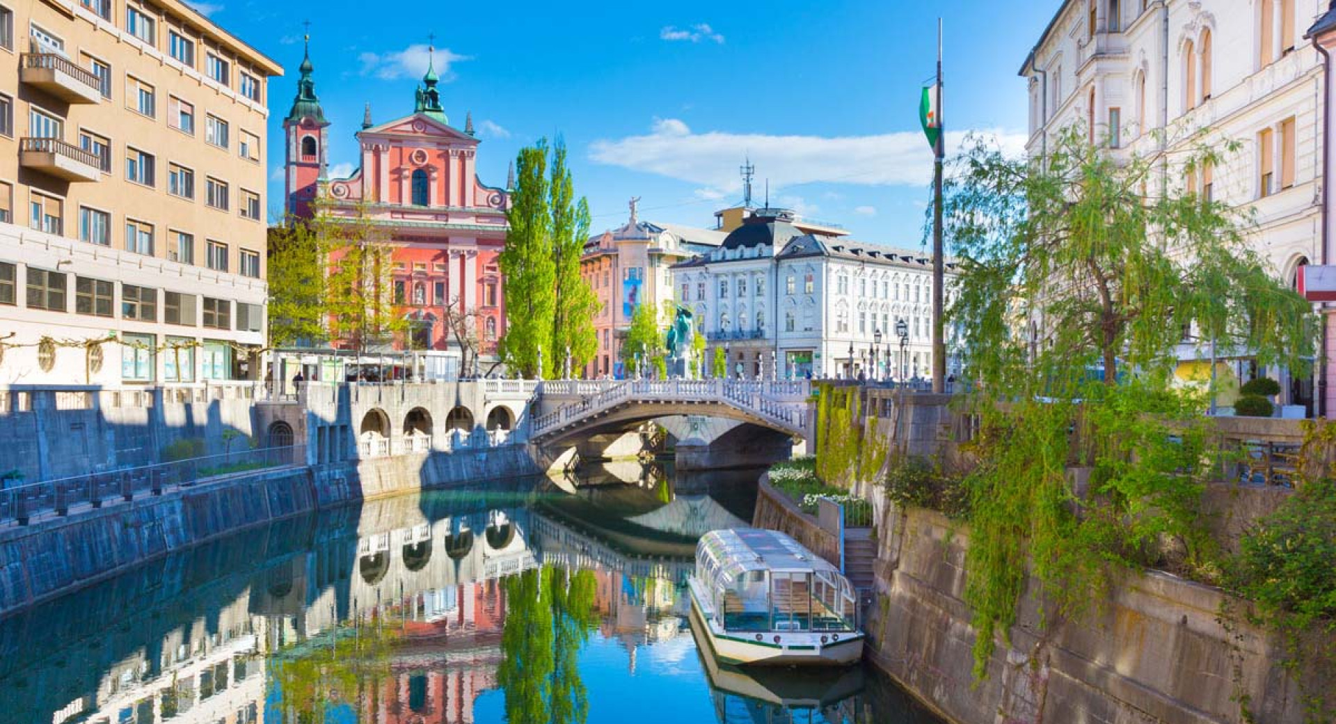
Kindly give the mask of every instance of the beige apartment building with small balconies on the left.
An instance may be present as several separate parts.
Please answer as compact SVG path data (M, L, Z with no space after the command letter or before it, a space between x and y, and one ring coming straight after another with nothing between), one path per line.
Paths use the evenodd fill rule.
M186 3L0 0L0 385L263 374L267 81Z

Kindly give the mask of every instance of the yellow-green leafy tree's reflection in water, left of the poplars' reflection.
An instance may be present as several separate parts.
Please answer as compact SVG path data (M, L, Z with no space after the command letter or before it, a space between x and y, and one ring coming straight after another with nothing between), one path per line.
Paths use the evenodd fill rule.
M310 639L278 652L269 661L265 721L279 712L275 721L347 721L361 708L361 699L375 696L391 676L390 655L398 633L399 628L382 617L359 620L331 630L329 641Z

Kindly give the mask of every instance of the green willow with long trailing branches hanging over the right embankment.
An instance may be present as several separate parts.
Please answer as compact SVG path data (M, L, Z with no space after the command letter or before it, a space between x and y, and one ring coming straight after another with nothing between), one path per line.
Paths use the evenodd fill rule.
M1233 144L1114 159L1069 128L1050 146L1018 160L975 142L946 187L961 268L949 318L982 422L966 478L978 677L1027 570L1041 625L1083 614L1117 570L1213 576L1198 502L1218 450L1202 391L1174 378L1185 329L1300 373L1315 350L1311 307L1248 244L1249 215L1161 183ZM1090 470L1081 496L1073 465Z

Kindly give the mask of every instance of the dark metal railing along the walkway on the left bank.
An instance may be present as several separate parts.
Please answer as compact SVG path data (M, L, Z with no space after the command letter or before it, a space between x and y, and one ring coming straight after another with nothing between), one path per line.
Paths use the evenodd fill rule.
M289 465L306 465L305 445L238 450L9 486L0 492L0 524L15 521L28 525L35 514L67 516L76 505L102 508L118 500L132 501L144 493L160 496L164 490L188 488L210 478Z

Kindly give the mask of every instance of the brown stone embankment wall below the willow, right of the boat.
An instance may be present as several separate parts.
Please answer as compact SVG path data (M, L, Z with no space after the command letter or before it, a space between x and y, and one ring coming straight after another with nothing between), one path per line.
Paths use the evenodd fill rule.
M987 679L973 681L969 532L935 512L874 502L883 516L868 656L949 719L1242 724L1242 700L1253 721L1304 721L1281 644L1245 621L1245 604L1160 572L1128 576L1085 618L1047 629L1026 593L1010 644L999 640ZM1234 614L1222 618L1226 609Z

